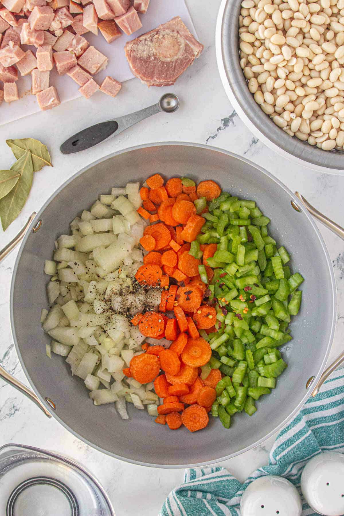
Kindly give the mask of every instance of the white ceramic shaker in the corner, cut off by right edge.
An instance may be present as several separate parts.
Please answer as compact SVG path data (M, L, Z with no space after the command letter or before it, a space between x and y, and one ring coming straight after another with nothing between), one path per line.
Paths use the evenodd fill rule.
M344 455L325 451L310 459L301 475L301 490L315 512L344 514Z

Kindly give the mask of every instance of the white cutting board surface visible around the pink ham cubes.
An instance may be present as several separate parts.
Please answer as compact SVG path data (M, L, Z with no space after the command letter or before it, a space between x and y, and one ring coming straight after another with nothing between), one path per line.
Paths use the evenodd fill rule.
M184 0L151 0L148 11L145 14L140 14L141 29L137 30L132 36L126 36L123 33L120 38L110 44L105 41L100 31L98 36L92 33L85 34L84 38L88 40L90 45L95 46L97 50L109 59L106 69L94 75L94 80L101 85L107 75L119 80L121 83L132 79L134 75L129 69L124 54L125 43L154 29L161 23L168 22L175 16L180 16L190 32L195 37L197 36ZM34 47L27 48L34 50ZM17 84L20 99L11 104L3 102L0 105L0 125L40 111L36 97L31 95L31 75L20 77ZM74 80L68 77L68 75L58 75L55 68L50 73L50 86L55 86L61 102L67 102L81 96L81 93L78 92L79 86ZM105 95L105 93L96 92L95 95ZM121 92L119 92L118 98L120 96ZM92 98L85 102L92 102ZM87 103L85 108L87 108ZM55 107L54 109L59 108Z

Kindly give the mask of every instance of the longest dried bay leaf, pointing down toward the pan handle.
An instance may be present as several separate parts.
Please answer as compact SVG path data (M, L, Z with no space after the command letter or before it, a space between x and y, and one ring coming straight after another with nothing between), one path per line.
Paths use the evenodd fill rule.
M7 196L0 199L0 217L4 231L18 217L31 189L34 167L30 151L25 151L11 167L11 171L18 172L20 177Z

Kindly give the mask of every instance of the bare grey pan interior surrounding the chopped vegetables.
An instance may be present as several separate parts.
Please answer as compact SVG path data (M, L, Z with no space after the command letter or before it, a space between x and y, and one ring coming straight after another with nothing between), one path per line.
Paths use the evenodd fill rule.
M284 346L288 368L277 388L257 401L253 417L236 414L231 429L211 418L206 429L169 432L146 411L129 407L123 421L114 406L93 406L83 380L72 377L62 357L45 354L50 341L40 325L47 308L44 260L51 259L54 240L100 193L128 181L144 181L160 172L169 178L187 175L195 181L213 179L232 195L254 199L271 219L270 233L292 255L293 272L305 277L303 302L291 324L293 340ZM291 204L291 192L270 174L231 153L191 144L157 144L117 153L78 173L42 208L41 229L30 232L21 247L11 289L14 340L24 370L40 398L56 404L53 415L92 446L118 458L147 465L204 464L252 447L281 426L305 401L306 382L319 376L334 326L335 294L331 262L315 224ZM45 401L44 401L45 402ZM48 406L47 406L48 407ZM50 407L48 407L50 409Z

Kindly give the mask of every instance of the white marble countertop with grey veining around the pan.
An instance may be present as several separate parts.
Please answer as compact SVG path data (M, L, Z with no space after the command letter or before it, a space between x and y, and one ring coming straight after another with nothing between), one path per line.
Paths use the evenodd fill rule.
M187 0L199 39L205 48L201 57L170 88L181 99L177 114L156 115L118 138L81 154L71 157L60 154L59 146L64 139L85 126L106 120L110 112L113 116L121 116L157 102L161 89L148 89L138 79L133 79L124 83L120 95L114 100L95 94L90 101L78 99L55 110L0 126L1 168L9 168L13 163L6 138L34 137L44 141L51 151L54 164L54 168L44 168L35 174L34 185L20 216L5 234L0 234L0 247L12 239L31 212L38 211L54 190L77 170L111 152L156 141L204 143L245 156L276 175L291 190L302 192L322 213L344 225L344 176L297 167L273 153L247 130L228 102L215 57L215 24L219 4L219 0L211 3ZM323 227L319 229L333 261L338 291L338 325L331 360L342 349L340 337L344 333L344 250L338 237ZM10 281L16 255L17 252L13 251L0 264L0 364L25 382L15 353L9 318ZM221 465L244 480L256 467L268 461L273 441L271 437L263 445ZM118 516L157 514L169 491L183 479L182 470L158 470L101 455L74 438L55 420L48 420L26 397L0 380L0 446L10 442L55 450L88 467L106 489Z

